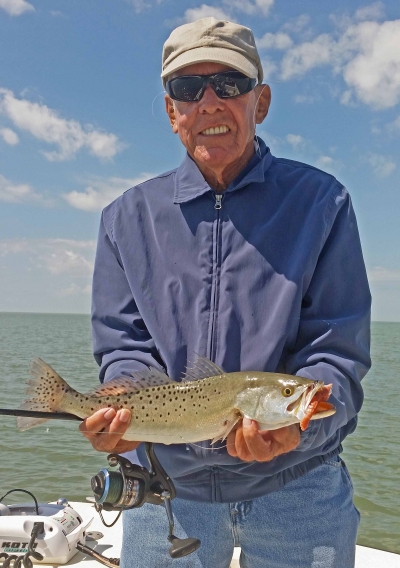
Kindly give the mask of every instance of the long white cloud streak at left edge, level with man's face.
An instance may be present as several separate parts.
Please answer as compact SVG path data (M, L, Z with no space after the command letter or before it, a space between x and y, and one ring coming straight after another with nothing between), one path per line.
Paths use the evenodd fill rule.
M21 130L57 146L58 151L44 152L50 161L70 159L83 148L98 158L112 158L123 148L115 134L101 132L90 124L81 126L44 104L17 99L8 89L0 89L0 113Z

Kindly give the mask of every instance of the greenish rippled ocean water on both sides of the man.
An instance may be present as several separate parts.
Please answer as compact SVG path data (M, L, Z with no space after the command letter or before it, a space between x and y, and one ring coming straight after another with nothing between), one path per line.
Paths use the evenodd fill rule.
M24 398L29 364L39 356L83 392L97 384L85 315L0 313L0 407ZM364 379L365 404L356 432L345 441L355 502L361 512L358 543L400 553L400 323L374 323L373 368ZM77 423L51 421L18 432L0 416L0 497L13 488L38 500L91 495L90 478L107 466L77 431ZM5 502L26 501L14 494Z

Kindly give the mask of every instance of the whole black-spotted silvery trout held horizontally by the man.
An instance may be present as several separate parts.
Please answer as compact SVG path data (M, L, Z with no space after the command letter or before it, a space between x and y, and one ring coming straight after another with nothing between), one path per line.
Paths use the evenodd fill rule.
M275 430L334 414L327 400L332 385L280 373L241 371L225 373L209 359L198 357L181 382L154 368L113 379L81 394L47 363L31 364L27 395L21 409L67 412L86 418L100 408L127 408L132 414L125 440L163 444L224 440L244 416L260 430ZM20 430L46 419L21 418Z

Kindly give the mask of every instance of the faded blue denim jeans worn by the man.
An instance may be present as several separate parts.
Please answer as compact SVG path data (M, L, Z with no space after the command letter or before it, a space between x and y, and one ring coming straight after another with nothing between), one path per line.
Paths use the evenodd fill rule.
M144 505L124 512L121 568L229 568L234 546L242 568L354 567L359 513L339 456L251 501L172 507L175 535L199 538L197 552L171 559L166 512Z

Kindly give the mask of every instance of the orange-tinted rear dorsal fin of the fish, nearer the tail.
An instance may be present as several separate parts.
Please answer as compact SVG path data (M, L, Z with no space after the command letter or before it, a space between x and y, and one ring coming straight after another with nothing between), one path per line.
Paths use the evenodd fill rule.
M160 385L169 385L174 383L166 374L162 373L154 367L135 371L130 377L119 377L111 379L107 383L86 393L86 396L119 396L124 394L133 394L143 389L158 387Z

